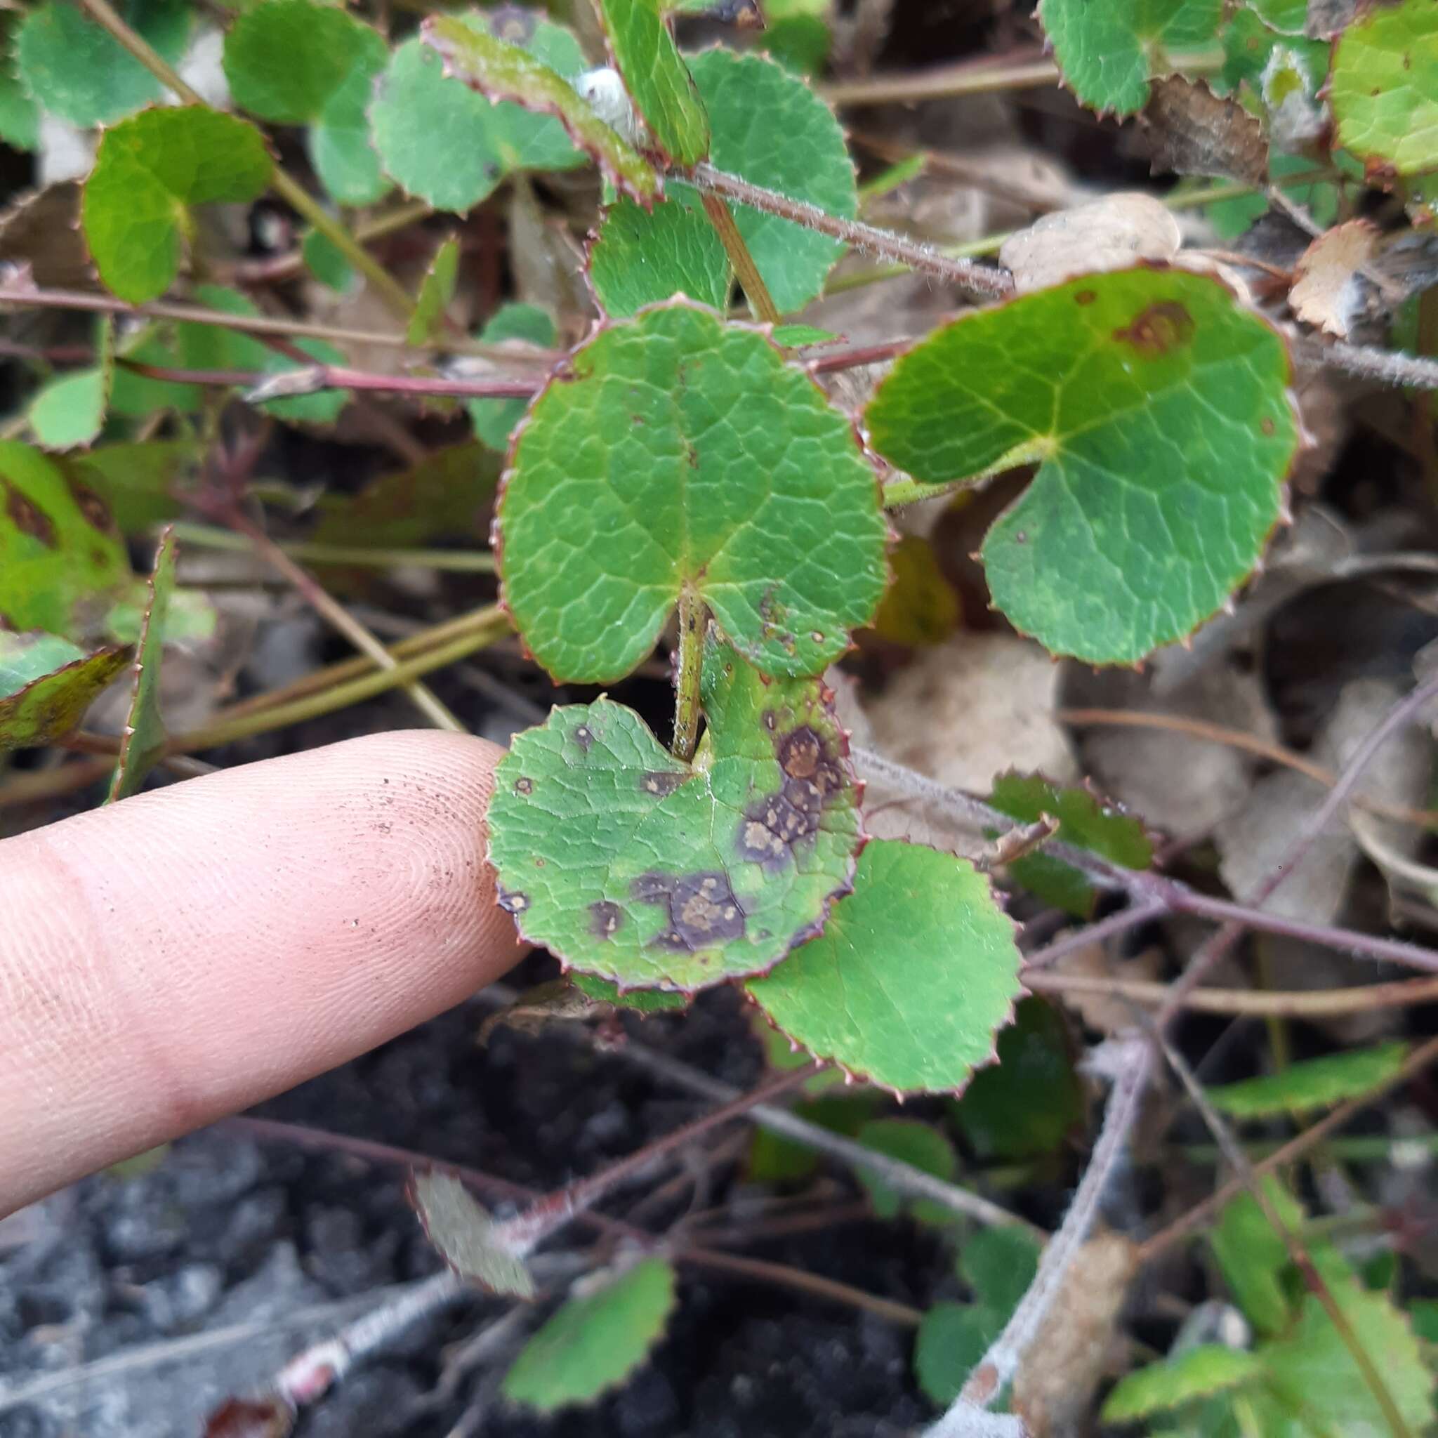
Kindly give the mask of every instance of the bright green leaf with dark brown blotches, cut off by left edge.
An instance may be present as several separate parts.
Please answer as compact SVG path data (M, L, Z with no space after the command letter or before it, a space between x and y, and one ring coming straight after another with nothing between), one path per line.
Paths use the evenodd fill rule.
M39 450L0 441L0 621L92 633L129 581L105 502Z

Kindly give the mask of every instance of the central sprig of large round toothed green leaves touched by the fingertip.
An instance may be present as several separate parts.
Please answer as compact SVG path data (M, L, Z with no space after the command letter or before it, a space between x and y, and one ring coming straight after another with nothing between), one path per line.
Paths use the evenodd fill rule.
M611 190L590 253L608 318L510 440L493 538L515 627L557 682L607 684L677 626L669 749L607 697L515 738L489 811L500 903L591 998L741 984L815 1058L955 1091L1021 992L1014 925L966 860L866 841L823 677L884 591L884 508L1037 463L984 545L994 603L1054 654L1135 663L1218 610L1278 522L1284 345L1209 275L1089 275L915 345L858 430L782 324L854 213L833 115L766 59L680 56L651 4L600 10L614 72L578 88L479 23L421 27L449 76L557 115ZM735 279L764 324L728 318Z

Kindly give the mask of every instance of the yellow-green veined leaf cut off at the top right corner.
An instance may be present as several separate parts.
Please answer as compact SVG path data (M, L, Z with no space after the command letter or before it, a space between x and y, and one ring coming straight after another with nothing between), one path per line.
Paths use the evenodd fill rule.
M1337 138L1379 177L1438 170L1438 7L1373 6L1333 47Z

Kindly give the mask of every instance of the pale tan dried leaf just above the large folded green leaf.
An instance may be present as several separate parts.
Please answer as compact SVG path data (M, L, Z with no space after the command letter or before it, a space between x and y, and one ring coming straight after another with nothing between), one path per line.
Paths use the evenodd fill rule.
M1076 275L1172 260L1182 236L1172 213L1148 194L1110 194L1035 220L998 252L1022 295Z

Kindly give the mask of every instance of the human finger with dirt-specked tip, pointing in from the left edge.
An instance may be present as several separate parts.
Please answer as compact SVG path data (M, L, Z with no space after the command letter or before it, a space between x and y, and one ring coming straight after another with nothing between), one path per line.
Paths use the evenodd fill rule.
M0 841L0 1215L508 969L502 752L371 735Z

